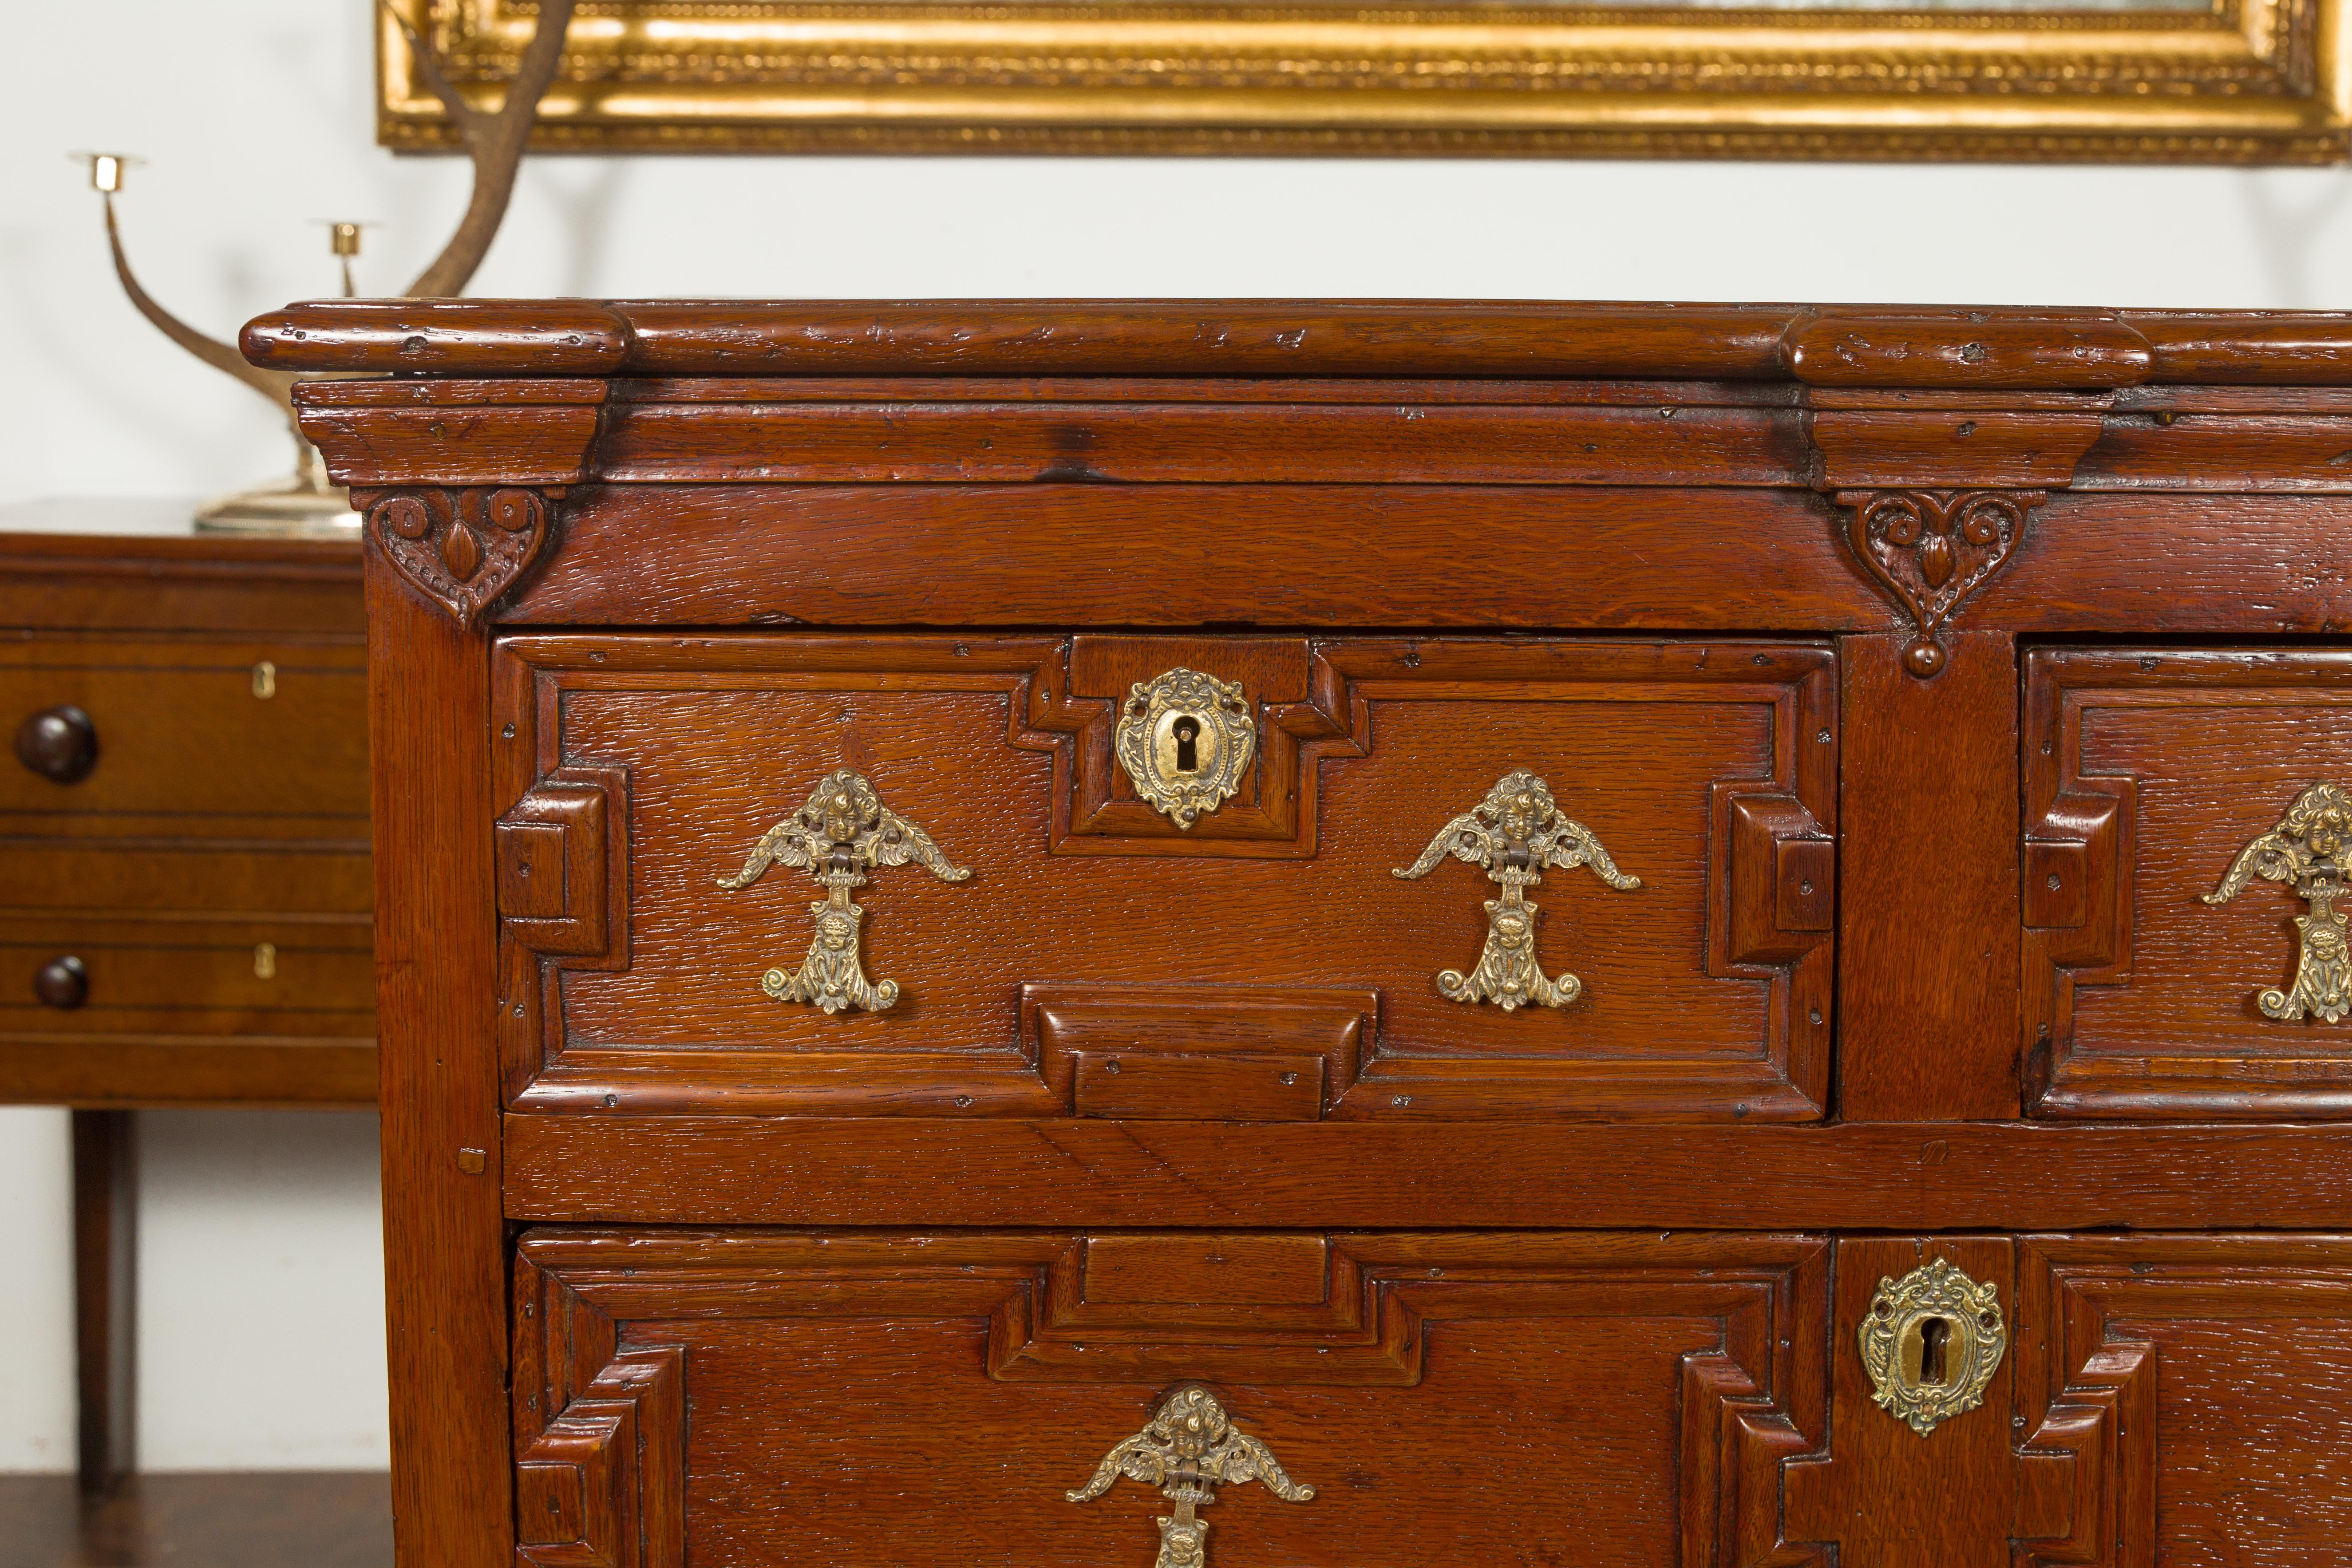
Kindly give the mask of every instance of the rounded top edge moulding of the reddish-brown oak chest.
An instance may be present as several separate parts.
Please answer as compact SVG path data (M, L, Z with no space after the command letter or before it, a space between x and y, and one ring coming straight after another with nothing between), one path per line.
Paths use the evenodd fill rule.
M240 339L273 369L492 376L1722 376L1825 386L2345 386L2317 313L1416 301L318 301ZM1818 367L1818 369L1816 369Z

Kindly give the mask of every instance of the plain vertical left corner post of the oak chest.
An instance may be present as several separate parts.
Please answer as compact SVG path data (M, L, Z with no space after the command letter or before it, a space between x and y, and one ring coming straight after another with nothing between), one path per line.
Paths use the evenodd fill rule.
M381 555L367 628L376 907L397 912L376 931L376 1009L407 1030L383 1058L386 1319L409 1392L393 1401L395 1540L405 1566L508 1568L489 670Z

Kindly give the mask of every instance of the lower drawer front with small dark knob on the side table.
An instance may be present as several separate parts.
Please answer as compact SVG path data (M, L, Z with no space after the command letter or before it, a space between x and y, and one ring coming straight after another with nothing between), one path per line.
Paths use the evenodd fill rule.
M374 1034L367 924L0 922L0 1032Z

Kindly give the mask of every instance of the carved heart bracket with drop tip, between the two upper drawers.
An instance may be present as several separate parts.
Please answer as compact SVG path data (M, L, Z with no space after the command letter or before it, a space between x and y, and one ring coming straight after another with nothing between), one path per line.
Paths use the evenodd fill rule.
M1936 632L2025 541L2046 489L1842 489L1846 545L1910 616L1903 668L1929 679L1945 665Z

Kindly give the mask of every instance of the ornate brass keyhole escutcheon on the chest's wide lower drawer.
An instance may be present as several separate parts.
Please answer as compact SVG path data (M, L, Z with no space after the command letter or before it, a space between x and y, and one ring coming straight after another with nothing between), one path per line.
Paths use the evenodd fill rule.
M1990 1284L1938 1258L1903 1279L1879 1279L1860 1342L1870 1401L1926 1436L1985 1401L2009 1352L2009 1326Z

